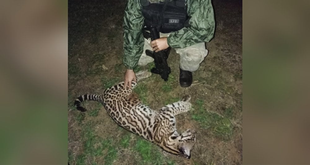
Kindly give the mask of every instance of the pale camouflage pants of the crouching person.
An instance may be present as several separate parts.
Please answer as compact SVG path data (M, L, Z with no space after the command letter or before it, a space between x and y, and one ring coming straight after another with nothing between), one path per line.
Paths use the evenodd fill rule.
M161 37L166 37L169 34L160 34ZM145 66L150 62L153 62L152 57L146 56L145 50L152 50L151 39L144 39L143 53L139 59L139 66ZM176 53L180 55L180 68L190 72L196 71L200 63L205 59L208 54L208 50L205 47L205 43L198 43L189 47L175 48Z

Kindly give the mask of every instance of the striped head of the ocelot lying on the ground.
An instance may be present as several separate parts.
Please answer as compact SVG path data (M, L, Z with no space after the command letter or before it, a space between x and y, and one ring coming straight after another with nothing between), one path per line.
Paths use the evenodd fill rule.
M174 150L178 151L174 153L190 159L190 152L192 151L196 142L196 132L194 130L188 129L179 136L172 136L171 139L174 140L174 145L172 145L172 147Z

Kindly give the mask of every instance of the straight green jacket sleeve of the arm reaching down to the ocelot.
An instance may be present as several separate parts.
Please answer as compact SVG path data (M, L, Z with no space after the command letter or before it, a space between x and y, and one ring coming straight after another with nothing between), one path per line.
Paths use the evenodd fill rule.
M144 39L142 35L144 17L140 11L139 0L128 0L124 15L124 59L127 69L137 66L143 52Z

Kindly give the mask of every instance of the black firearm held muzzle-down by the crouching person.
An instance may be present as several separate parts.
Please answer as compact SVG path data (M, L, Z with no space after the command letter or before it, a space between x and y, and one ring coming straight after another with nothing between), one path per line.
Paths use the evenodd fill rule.
M150 33L148 33L146 30L149 30ZM144 28L143 30L143 36L144 38L151 38L151 40L159 39L159 31L157 31L156 27L151 27L150 29ZM165 50L153 52L151 50L146 50L145 54L147 56L150 56L154 59L155 68L151 69L152 73L159 74L162 79L165 81L168 81L168 76L171 73L170 67L168 66L167 59L170 53L170 47L168 47Z

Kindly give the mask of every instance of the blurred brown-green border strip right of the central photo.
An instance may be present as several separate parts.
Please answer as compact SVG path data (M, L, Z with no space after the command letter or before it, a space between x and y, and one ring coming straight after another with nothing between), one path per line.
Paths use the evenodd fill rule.
M310 1L243 1L243 163L310 164Z

